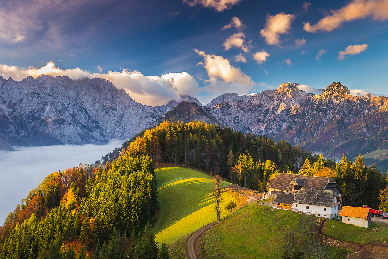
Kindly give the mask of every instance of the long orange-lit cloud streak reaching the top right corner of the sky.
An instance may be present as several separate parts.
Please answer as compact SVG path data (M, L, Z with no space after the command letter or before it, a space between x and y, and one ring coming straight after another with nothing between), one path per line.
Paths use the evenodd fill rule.
M333 31L343 22L363 19L372 16L374 20L388 19L388 0L353 0L339 10L331 10L331 14L310 25L305 23L303 30L316 33L319 31Z

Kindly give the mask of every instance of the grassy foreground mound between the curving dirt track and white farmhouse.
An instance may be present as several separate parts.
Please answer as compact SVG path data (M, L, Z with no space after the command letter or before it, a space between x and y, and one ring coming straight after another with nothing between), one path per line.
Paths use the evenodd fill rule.
M254 203L223 219L205 238L217 240L219 249L230 258L280 258L284 237L298 225L298 219L297 213Z

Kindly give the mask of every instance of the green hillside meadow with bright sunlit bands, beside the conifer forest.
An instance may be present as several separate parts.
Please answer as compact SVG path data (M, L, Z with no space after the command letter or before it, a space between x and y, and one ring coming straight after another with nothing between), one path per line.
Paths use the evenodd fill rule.
M154 233L158 243L173 243L186 237L194 230L217 220L215 199L211 196L211 176L196 170L181 167L155 169L161 216ZM225 185L230 183L223 182ZM224 204L239 196L223 193L220 205L221 217L229 212L223 210Z

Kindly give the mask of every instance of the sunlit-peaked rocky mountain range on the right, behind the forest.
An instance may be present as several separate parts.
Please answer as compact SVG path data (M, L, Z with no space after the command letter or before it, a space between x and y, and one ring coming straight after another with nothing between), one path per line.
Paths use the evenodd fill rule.
M387 130L388 122L383 119L387 110L388 98L371 94L353 97L341 83L332 83L322 94L314 95L289 82L255 94L248 101L234 96L234 101L212 106L211 114L232 129L283 139L336 157L365 148L371 136ZM366 120L378 122L367 127Z

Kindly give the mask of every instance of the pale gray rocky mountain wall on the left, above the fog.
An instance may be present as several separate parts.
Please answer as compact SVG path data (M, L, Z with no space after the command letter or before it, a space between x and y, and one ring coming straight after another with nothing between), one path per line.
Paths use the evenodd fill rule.
M42 75L17 82L0 77L0 134L17 145L128 139L169 110L139 104L100 78Z

